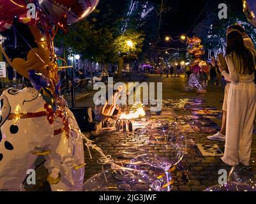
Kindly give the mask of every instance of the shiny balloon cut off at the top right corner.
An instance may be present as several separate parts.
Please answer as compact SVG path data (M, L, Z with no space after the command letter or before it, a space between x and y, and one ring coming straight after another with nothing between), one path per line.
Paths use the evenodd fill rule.
M243 1L243 11L248 21L256 27L256 2L255 0Z

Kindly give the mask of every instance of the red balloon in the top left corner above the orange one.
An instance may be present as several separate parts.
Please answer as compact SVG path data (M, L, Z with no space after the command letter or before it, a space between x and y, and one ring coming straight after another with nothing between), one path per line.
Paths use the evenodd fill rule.
M0 0L0 31L10 29L13 24L13 18L19 17L19 20L34 22L27 18L27 4L24 0Z

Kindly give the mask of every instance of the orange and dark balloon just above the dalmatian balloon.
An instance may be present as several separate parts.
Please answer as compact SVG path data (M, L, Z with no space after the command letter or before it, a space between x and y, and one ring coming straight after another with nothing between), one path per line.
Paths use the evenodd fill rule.
M29 69L40 71L48 77L47 65L50 63L50 51L45 36L37 25L26 25L13 20L11 29L0 33L3 50L10 65L22 76L29 78Z

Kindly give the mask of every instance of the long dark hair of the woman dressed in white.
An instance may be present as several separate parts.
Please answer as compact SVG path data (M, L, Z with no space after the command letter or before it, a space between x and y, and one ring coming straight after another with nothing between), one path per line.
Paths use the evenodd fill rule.
M230 55L234 59L236 54L239 67L238 73L242 75L252 75L255 70L252 51L245 46L242 34L237 31L231 31L227 34L227 50L226 56Z

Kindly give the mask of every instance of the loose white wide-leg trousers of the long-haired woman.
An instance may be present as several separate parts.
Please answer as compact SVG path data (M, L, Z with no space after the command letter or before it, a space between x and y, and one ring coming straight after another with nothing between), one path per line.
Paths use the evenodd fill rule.
M230 84L227 99L225 152L222 161L229 165L250 165L253 122L256 109L253 82Z

